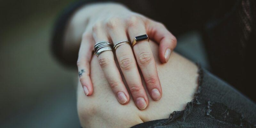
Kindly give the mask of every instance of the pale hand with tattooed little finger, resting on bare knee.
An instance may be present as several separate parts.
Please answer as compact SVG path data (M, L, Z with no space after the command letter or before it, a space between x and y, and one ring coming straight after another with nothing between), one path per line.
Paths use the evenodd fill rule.
M132 41L136 36L147 34L150 39L159 43L159 58L162 63L168 61L172 50L176 47L176 38L163 24L132 12L119 4L101 5L101 8L88 18L77 60L80 82L86 96L92 95L93 92L90 61L95 43L108 41L116 44L123 40ZM148 97L143 88L137 64L151 98L159 100L162 96L162 88L148 41L141 41L133 47L122 44L113 52L102 52L98 59L118 101L121 104L128 103L130 96L116 66L114 53L136 106L139 109L145 109L148 106Z

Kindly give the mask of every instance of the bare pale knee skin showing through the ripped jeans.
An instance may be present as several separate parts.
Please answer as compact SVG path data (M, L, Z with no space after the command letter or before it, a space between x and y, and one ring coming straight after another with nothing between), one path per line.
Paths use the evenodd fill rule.
M93 55L90 77L94 93L86 97L79 81L77 88L77 110L83 128L131 127L151 120L168 118L170 113L185 109L187 102L194 99L198 88L196 65L175 52L168 63L162 64L157 56L158 45L154 42L149 44L163 88L162 99L155 102L149 99L150 104L144 110L137 109L132 101L125 105L119 104L100 69L97 57ZM146 87L144 81L143 85Z

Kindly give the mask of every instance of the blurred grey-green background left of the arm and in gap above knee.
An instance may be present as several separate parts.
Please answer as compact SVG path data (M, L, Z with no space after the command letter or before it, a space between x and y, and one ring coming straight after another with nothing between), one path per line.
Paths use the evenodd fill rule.
M70 0L0 2L0 127L78 128L77 72L50 51L53 23ZM208 68L196 31L176 51Z

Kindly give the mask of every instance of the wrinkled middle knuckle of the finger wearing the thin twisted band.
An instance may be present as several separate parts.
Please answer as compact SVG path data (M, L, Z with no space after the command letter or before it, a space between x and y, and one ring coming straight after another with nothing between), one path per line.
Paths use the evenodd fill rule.
M131 70L134 67L132 58L127 55L120 57L120 67L123 70Z

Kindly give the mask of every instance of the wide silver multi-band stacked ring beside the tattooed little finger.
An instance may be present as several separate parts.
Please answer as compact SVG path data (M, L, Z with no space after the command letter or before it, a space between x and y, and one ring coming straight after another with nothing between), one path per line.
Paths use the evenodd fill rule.
M94 45L95 55L98 57L104 51L112 51L112 44L107 41L101 41Z

